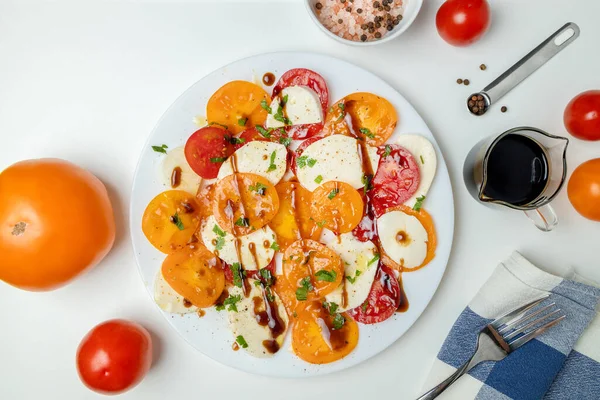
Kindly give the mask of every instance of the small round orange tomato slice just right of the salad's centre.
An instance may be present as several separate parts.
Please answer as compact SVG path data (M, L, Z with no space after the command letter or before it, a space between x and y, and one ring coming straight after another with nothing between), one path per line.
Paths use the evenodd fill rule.
M363 217L360 193L345 182L329 181L312 193L313 219L336 235L352 231Z

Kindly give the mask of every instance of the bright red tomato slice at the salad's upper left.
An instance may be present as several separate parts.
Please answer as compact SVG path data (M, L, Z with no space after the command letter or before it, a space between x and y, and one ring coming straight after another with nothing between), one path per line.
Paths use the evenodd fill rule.
M216 178L223 161L233 152L231 133L206 126L192 133L185 144L185 159L195 173L205 179Z

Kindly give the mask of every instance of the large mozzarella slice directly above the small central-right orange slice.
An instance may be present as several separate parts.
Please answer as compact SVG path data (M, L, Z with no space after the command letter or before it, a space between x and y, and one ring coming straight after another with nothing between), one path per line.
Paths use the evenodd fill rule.
M346 182L360 189L364 186L363 168L357 146L356 139L344 135L331 135L312 143L302 152L307 163L302 168L298 166L298 181L311 192L329 181Z

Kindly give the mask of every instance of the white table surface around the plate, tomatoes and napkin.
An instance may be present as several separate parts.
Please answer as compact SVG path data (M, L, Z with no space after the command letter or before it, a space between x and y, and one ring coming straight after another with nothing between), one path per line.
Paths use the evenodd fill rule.
M600 88L600 2L492 0L492 28L468 48L438 37L434 18L441 3L426 0L414 25L395 41L351 48L326 38L299 0L0 2L0 169L27 158L71 160L106 183L118 227L105 261L61 290L28 293L0 283L0 398L98 398L79 382L75 350L92 326L119 317L144 324L156 345L152 370L123 399L408 399L420 391L457 315L511 251L547 270L574 267L600 281L600 223L580 217L566 191L554 201L559 227L542 233L519 212L478 205L462 180L464 157L484 136L518 125L566 135L567 102ZM502 100L506 114L499 107L480 118L468 114L469 93L567 21L580 25L581 37ZM278 50L333 55L395 86L436 135L456 204L452 255L422 317L373 359L302 380L237 372L188 346L146 293L127 230L138 154L165 109L208 72ZM457 85L457 78L470 79L471 86ZM569 171L595 157L600 143L572 140Z

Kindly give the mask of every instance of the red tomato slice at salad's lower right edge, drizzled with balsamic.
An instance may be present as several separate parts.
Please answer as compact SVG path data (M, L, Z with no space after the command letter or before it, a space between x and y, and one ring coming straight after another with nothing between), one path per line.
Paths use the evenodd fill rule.
M362 324L376 324L390 318L400 306L400 284L394 272L387 266L379 263L375 274L371 292L365 302L348 311L356 322Z

